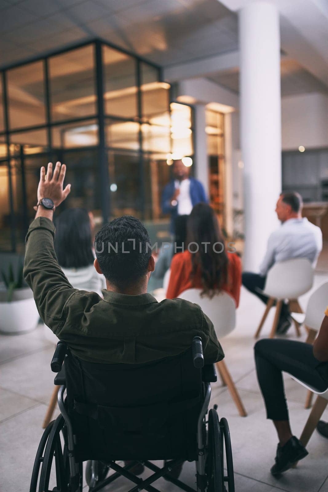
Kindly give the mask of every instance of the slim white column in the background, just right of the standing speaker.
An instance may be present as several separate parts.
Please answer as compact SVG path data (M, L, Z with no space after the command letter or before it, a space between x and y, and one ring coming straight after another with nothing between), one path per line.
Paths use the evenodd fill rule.
M195 104L195 178L199 180L205 188L207 196L209 196L209 163L207 155L206 143L206 118L205 105Z

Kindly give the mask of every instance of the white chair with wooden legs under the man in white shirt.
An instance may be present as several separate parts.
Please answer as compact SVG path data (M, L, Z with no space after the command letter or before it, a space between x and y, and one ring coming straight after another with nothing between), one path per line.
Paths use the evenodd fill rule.
M299 306L298 297L308 292L313 285L314 270L311 263L306 258L294 258L292 260L281 261L275 263L268 271L266 286L263 294L268 296L268 304L264 315L260 321L259 327L255 333L255 338L258 338L268 312L276 302L276 311L271 328L269 338L274 338L281 307L285 299L288 300L289 309L291 312L303 312ZM299 323L294 319L296 333L300 336Z

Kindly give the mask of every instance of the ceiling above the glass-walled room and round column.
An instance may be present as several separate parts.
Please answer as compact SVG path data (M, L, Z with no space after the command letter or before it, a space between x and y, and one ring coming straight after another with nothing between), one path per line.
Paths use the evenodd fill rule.
M177 69L182 63L234 54L238 52L236 1L245 0L0 0L0 67L95 37ZM327 88L322 82L328 59L323 46L328 39L325 1L281 3L282 46L289 55L288 63L282 62L283 95ZM295 14L299 2L307 6L306 22L301 10ZM238 66L204 76L238 90Z

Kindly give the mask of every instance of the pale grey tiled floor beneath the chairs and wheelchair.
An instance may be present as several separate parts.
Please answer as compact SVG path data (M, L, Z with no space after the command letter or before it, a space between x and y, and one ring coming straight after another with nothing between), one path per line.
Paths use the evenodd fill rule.
M323 270L320 268L316 275L314 288L328 280L328 273ZM300 298L304 308L309 295ZM212 403L218 404L220 417L227 417L230 425L236 491L328 492L328 440L316 431L308 444L309 456L296 469L286 472L280 480L269 473L277 439L271 422L266 420L253 360L253 335L262 312L260 301L243 289L237 328L222 340L227 366L248 416L239 417L227 389L219 383L212 386ZM264 337L268 335L272 316L273 312L263 328ZM288 337L294 336L291 329ZM54 345L43 338L41 328L27 335L0 337L0 490L3 492L29 490L35 452L42 434L41 423L53 389L54 375L50 371L53 352ZM299 435L309 414L309 410L303 408L306 391L290 377L286 376L285 380L292 429ZM324 418L328 420L328 410ZM182 478L194 486L193 463L184 464ZM175 489L163 479L156 485L165 492ZM108 491L123 492L128 487L125 479L119 479L115 487L108 487Z

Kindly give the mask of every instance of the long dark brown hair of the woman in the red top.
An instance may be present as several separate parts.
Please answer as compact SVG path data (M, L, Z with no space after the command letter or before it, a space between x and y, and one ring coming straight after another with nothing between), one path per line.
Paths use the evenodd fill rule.
M190 243L196 243L199 246L199 250L191 254L191 280L200 271L203 284L201 295L212 298L227 282L229 260L217 217L213 209L206 203L195 205L189 216L187 244ZM221 243L224 246L215 245L215 243ZM191 251L196 249L195 245L190 246ZM223 249L222 252L216 252L221 251L221 249Z

